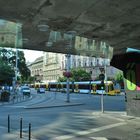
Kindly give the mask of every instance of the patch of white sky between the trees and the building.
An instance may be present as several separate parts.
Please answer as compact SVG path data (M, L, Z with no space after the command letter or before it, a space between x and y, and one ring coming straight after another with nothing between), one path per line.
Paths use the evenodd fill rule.
M23 50L26 62L33 62L36 58L43 56L42 51Z

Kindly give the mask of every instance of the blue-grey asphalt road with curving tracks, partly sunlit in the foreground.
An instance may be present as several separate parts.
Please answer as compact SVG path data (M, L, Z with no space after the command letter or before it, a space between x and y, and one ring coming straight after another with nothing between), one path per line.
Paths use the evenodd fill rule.
M0 106L0 126L7 127L7 116L10 114L11 130L19 131L20 119L23 119L23 132L27 135L29 123L32 125L32 138L38 140L62 140L62 139L95 139L107 140L112 138L103 130L125 125L122 119L111 117L101 113L101 96L87 94L70 94L70 103L82 103L75 106L61 106L53 108L27 107L46 105L59 101L66 101L66 94L46 93L36 94L32 91L32 97L23 102L5 104ZM104 96L104 111L125 111L124 96ZM110 116L110 117L109 117ZM111 129L112 130L112 129ZM100 134L100 132L102 132ZM119 133L117 131L117 133ZM99 133L99 135L97 135ZM121 132L120 132L121 134ZM123 134L122 134L123 135ZM120 135L121 136L121 135ZM118 136L115 136L116 138Z

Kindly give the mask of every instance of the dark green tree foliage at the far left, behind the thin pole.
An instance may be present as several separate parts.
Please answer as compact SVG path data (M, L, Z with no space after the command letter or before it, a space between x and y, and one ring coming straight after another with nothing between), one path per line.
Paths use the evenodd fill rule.
M1 84L10 84L15 76L16 52L0 48L0 82ZM30 76L30 70L26 65L23 51L18 51L18 71L21 75L20 80L27 80ZM18 77L19 79L19 77Z

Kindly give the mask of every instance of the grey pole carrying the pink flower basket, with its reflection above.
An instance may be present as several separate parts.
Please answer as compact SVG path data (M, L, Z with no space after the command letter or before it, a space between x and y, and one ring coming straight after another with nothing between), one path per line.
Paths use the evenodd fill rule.
M70 48L72 47L72 38L76 35L76 31L68 31L67 32L67 35L70 36L70 44L67 46L68 47L68 53L66 54L66 58L67 58L67 69L66 69L66 72L67 73L70 73L70 57L71 57L71 54L70 54ZM66 102L70 102L70 84L69 84L69 76L67 76L67 100Z

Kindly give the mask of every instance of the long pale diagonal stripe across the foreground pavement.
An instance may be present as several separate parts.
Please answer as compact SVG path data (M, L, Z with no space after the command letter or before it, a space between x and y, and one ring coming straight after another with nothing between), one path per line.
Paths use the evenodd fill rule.
M80 135L80 136L88 135L88 134L91 134L91 133L96 133L96 132L99 132L99 131L110 129L110 128L113 128L113 127L118 127L118 126L125 125L125 124L127 124L127 123L126 122L120 122L120 123L115 123L115 124L101 126L101 127L98 127L98 128L88 129L86 131L76 131L75 130L75 132L73 132L73 134L58 136L58 137L55 137L54 140L67 140L67 139L72 139L72 138L75 137L75 135L76 136L77 135Z

